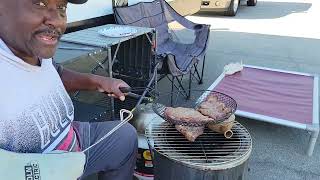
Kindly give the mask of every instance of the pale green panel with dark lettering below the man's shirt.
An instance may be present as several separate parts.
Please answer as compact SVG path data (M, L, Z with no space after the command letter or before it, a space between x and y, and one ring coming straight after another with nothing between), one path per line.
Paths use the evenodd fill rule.
M76 180L84 170L82 152L14 153L0 149L0 179Z

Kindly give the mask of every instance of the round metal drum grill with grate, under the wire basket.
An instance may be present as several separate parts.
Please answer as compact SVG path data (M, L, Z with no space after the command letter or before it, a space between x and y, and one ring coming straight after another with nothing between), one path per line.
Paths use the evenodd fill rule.
M240 123L233 126L230 139L206 128L189 142L173 125L155 119L146 129L154 150L155 179L245 179L252 140Z

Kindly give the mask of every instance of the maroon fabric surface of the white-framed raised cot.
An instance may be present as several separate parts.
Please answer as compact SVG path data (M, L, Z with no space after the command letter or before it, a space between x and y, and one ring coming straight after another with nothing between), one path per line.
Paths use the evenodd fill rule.
M238 110L312 124L313 83L312 76L245 67L214 90L233 97Z

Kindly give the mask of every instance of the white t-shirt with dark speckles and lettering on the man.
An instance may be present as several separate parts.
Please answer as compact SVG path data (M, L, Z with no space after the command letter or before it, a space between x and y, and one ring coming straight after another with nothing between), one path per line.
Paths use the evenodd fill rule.
M74 107L52 59L30 65L0 39L0 83L1 149L75 151Z

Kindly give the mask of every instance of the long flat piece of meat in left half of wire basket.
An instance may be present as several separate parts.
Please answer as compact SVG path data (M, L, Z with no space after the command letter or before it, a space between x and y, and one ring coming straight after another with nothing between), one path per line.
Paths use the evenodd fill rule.
M196 111L192 108L184 108L184 107L166 107L164 111L164 116L173 121L180 122L203 122L203 121L211 121L213 119L202 115L199 111Z

